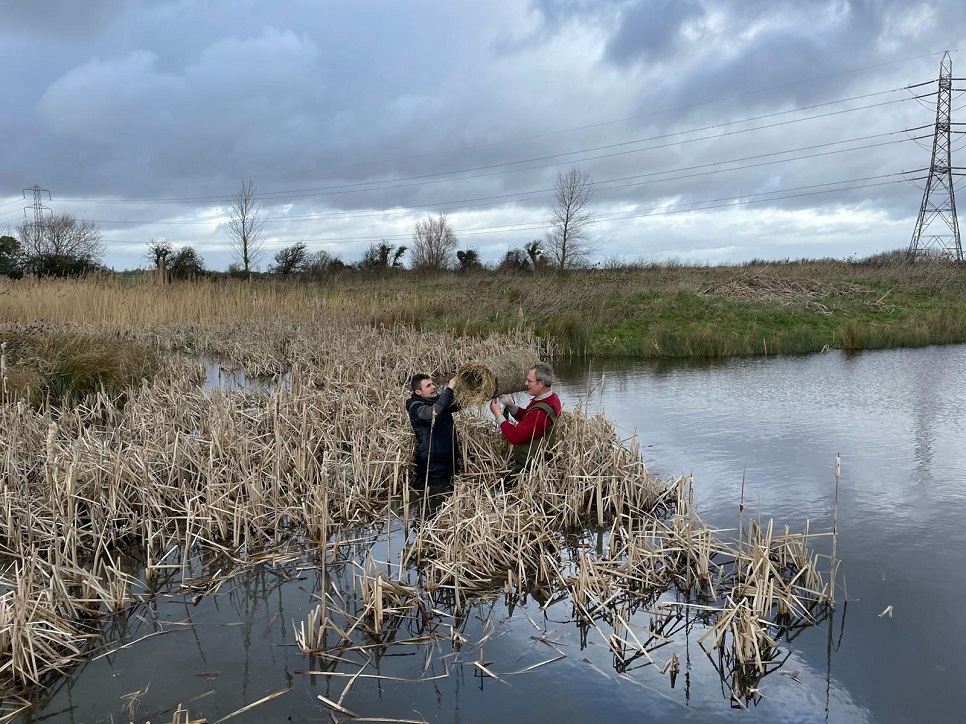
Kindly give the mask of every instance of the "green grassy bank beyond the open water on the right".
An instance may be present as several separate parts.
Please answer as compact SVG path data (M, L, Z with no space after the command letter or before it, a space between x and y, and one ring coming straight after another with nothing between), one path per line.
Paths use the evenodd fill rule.
M519 328L571 355L727 357L966 342L966 270L836 261L440 277L379 299L420 329ZM365 298L361 287L354 294ZM395 294L395 296L393 296ZM371 298L371 297L370 297ZM389 315L386 310L383 312Z

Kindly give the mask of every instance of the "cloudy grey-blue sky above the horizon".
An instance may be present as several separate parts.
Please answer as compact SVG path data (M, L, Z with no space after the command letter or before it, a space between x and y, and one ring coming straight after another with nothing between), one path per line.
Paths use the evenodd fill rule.
M439 213L496 262L576 167L595 263L862 258L909 246L946 51L961 0L4 2L0 234L37 196L115 269L225 269L250 181L261 268Z

